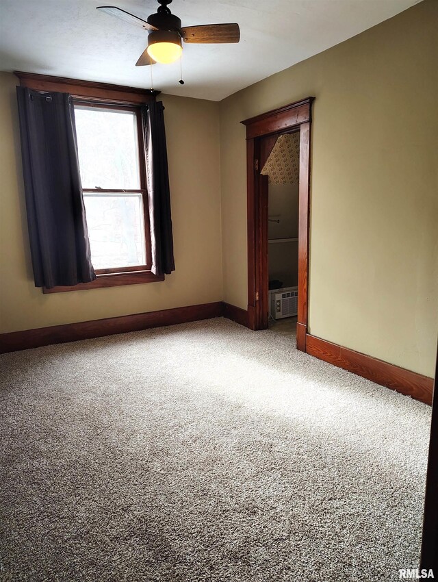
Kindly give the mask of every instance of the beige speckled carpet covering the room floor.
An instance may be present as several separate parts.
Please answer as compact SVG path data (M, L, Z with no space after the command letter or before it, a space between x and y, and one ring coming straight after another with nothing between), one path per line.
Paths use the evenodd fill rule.
M430 407L222 318L6 354L0 580L391 581Z

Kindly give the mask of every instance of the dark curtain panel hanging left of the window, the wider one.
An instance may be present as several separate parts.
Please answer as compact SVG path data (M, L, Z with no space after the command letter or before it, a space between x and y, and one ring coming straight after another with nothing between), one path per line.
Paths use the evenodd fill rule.
M27 223L36 287L96 279L82 199L75 110L66 93L17 87Z

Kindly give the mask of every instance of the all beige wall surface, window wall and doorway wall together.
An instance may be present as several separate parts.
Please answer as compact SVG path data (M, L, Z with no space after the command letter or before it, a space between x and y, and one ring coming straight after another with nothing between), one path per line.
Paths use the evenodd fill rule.
M310 331L432 376L437 25L438 3L426 0L220 104L163 96L177 270L162 283L102 290L44 296L34 288L16 79L1 73L0 332L221 299L246 309L240 121L313 95Z

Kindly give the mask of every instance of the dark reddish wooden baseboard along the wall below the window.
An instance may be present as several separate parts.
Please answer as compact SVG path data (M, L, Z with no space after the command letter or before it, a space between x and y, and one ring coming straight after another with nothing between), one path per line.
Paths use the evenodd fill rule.
M139 331L140 329L148 329L150 327L163 327L165 325L210 319L222 316L222 312L222 302L217 301L216 303L189 305L188 307L176 307L175 309L164 309L163 311L157 312L1 333L0 353L37 348L49 344L64 344L66 342L76 342L77 340L112 336L114 333Z

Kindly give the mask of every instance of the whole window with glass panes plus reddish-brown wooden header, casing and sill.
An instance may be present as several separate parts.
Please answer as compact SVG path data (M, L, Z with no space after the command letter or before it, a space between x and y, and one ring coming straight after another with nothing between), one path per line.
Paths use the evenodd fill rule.
M79 166L96 280L44 293L164 281L151 271L142 105L157 92L16 73L21 86L73 97ZM156 236L156 233L155 233ZM160 233L162 236L162 233Z

